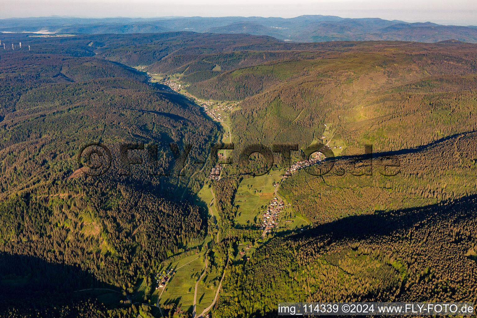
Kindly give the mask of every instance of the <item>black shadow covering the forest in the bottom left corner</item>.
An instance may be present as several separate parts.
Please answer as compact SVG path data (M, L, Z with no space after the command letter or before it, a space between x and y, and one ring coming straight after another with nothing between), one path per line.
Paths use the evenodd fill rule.
M90 288L104 289L83 290ZM43 310L51 314L65 307L76 317L81 306L94 303L99 308L101 304L118 308L123 306L120 300L126 300L120 288L99 281L77 266L5 253L0 254L0 290L4 294L0 297L0 317L8 317L12 310L22 317L35 317Z

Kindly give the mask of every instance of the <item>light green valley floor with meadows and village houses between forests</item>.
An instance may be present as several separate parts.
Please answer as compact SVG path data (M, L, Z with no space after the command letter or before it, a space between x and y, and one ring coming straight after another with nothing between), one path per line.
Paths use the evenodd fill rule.
M144 70L144 68L140 66L138 69ZM239 109L240 102L200 100L186 91L185 85L180 83L180 78L161 78L160 75L151 73L147 73L147 75L151 85L156 85L156 83L163 84L165 86L160 86L160 88L181 93L187 98L192 99L194 103L202 108L204 115L218 122L225 129L220 141L223 143L232 142L230 114ZM330 142L328 140L331 140L333 137L329 127L327 127L323 134L322 139L327 139L327 143L324 144L324 147L329 150L331 147L329 146ZM335 146L334 144L333 146L335 149L337 147L341 149L341 146ZM210 168L208 173L209 182L218 181L223 176L224 171L221 163L227 159L228 152L229 150L223 149L218 151L218 162ZM239 245L243 245L244 248L237 251L237 256L240 256L237 259L248 261L250 257L253 257L252 254L256 248L259 247L259 244L267 240L267 235L275 235L281 231L289 230L303 231L303 229L309 225L307 220L303 219L301 215L292 209L286 199L284 200L280 197L278 189L280 183L291 175L296 174L299 170L306 167L320 164L324 159L326 159L325 155L317 152L312 154L307 160L299 160L292 163L288 169L275 169L271 170L269 174L242 180L233 202L233 205L238 209L234 222L239 226L252 226L260 231L261 236L255 242L240 243ZM211 216L217 217L218 215L213 212L215 210L215 213L218 213L214 206L215 196L212 189L213 187L210 187L210 184L208 188L204 185L199 197L200 200L207 202L207 208ZM218 228L217 223L216 226ZM206 238L206 241L211 239L211 237ZM217 240L218 239L217 235ZM211 287L211 289L207 289L205 285L199 284L198 282L201 278L199 277L197 280L198 276L190 276L189 273L192 271L199 275L204 267L207 269L207 265L204 262L206 259L206 251L200 252L199 255L197 255L197 252L195 253L196 255L189 255L190 253L187 251L184 252L184 257L172 261L174 266L171 267L172 263L170 263L167 269L153 276L156 280L154 302L157 307L165 306L172 299L176 299L176 297L180 295L181 301L176 308L177 313L190 311L191 308L193 308L193 313L196 317L209 317L207 311L215 304L220 289L220 285L216 286L215 283L212 284L211 282L213 279L218 282L221 281L221 279L219 279L220 277L217 273L210 278L206 276L207 286L216 286L216 288ZM197 294L198 291L201 294L205 293L206 297L204 299L199 297L197 300L194 295ZM197 312L196 305L198 309Z

